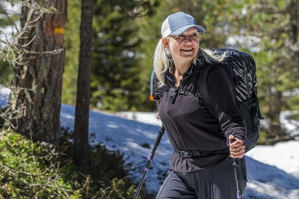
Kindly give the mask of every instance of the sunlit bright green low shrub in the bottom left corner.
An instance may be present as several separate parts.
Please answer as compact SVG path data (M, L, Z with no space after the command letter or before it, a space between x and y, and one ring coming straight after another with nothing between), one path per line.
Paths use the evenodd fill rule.
M81 199L65 181L52 145L31 144L18 133L0 131L0 193L4 199Z

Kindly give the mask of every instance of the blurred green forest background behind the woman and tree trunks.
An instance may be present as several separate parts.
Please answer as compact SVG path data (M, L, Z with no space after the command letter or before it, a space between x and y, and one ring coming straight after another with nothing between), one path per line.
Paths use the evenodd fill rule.
M48 4L42 4L47 1L58 2L36 2L41 2L39 6L43 8L42 5L45 5L45 10L48 10ZM7 35L9 37L9 31L22 24L24 2L27 1L1 0L2 40ZM67 4L62 44L65 60L61 71L62 84L58 86L61 88L61 103L76 105L82 1L64 2ZM206 33L199 36L201 47L232 48L247 51L254 57L258 98L266 118L262 121L259 144L294 139L285 133L279 117L281 111L288 110L289 118L299 121L297 0L94 0L90 108L112 113L157 111L156 104L149 100L151 58L161 37L162 22L177 11L191 14L197 24L206 29ZM3 42L0 44L1 49L7 46ZM7 56L7 51L1 51L0 58L0 85L15 88L18 76L11 62L7 61L11 57ZM49 82L51 84L55 86ZM22 88L27 85L18 82L17 86ZM52 95L52 98L55 97ZM24 121L22 123L26 123ZM18 131L22 132L24 128Z

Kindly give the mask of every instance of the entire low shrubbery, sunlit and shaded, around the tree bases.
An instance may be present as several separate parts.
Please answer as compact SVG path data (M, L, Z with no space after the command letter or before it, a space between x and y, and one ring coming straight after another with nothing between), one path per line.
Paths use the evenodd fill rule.
M91 147L91 164L72 163L72 132L62 129L59 153L53 145L31 143L0 130L0 199L130 199L136 185L123 154L102 144ZM142 189L139 199L152 199Z

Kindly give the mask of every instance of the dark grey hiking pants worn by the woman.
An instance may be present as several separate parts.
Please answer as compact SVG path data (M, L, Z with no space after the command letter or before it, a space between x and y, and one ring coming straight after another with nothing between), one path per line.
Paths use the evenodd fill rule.
M240 162L243 191L246 187L245 157ZM233 159L228 158L216 167L193 174L179 174L169 170L156 199L236 199L237 185Z

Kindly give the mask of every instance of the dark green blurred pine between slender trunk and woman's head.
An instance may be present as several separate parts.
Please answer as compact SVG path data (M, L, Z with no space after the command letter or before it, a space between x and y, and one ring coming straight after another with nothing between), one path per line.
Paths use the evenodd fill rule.
M138 20L152 14L147 1L97 1L95 5L92 105L122 111L142 108ZM153 5L154 6L154 5Z

